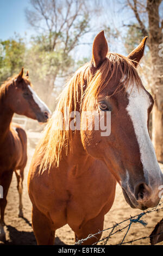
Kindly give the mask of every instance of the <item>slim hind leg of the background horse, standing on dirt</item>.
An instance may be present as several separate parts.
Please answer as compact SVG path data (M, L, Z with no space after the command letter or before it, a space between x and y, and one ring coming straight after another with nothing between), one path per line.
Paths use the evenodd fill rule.
M24 169L15 170L15 174L17 178L17 191L19 195L18 217L23 217L22 192L23 192Z

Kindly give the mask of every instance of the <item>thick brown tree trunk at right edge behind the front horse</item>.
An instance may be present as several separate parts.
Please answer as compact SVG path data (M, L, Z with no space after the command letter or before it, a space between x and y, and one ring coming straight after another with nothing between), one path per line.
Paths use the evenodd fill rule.
M155 100L152 115L152 141L158 161L163 162L163 57L159 54L159 45L162 43L162 32L159 22L160 3L160 0L147 0L149 45L153 68L151 83Z

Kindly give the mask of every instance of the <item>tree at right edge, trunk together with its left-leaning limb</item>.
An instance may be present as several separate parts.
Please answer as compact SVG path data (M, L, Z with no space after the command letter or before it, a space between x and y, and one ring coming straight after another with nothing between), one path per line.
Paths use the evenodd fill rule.
M152 114L152 139L158 161L163 162L163 58L159 54L163 41L163 20L161 20L162 0L127 0L129 7L139 23L143 36L148 35L151 53L152 81L151 90L155 104ZM142 21L141 13L147 14L147 21Z

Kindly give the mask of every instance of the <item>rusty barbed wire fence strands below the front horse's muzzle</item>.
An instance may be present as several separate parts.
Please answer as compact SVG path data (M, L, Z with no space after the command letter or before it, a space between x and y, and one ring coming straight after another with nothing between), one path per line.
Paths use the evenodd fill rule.
M143 237L140 237L138 239L134 239L134 240L130 240L130 241L127 241L127 242L124 242L124 239L126 239L126 236L128 234L128 231L129 229L131 228L131 225L133 225L133 223L141 223L144 227L147 226L147 222L145 220L141 220L141 217L147 215L147 214L151 214L152 212L160 212L161 210L163 210L163 202L161 202L158 206L154 207L153 209L151 210L148 210L148 211L143 211L141 214L138 214L138 215L135 215L135 216L130 216L130 218L127 218L126 220L123 220L119 223L115 223L112 227L110 228L106 228L106 229L103 229L103 230L99 230L97 233L95 234L90 234L89 236L87 236L86 238L84 239L81 239L81 240L78 240L75 245L82 245L83 242L85 242L86 240L89 240L91 239L92 237L96 237L97 235L99 234L102 234L104 231L106 230L111 230L109 235L103 237L103 239L93 243L93 245L97 245L97 243L99 242L104 242L103 245L106 245L110 239L111 236L115 235L116 233L120 233L122 232L122 230L124 229L127 229L126 231L126 234L124 235L121 243L117 243L116 245L124 245L124 244L128 244L128 243L133 243L135 241L139 241L139 240L143 240L143 239L147 239L147 238L151 238L153 236L157 236L157 235L160 235L163 233L163 230L158 233L158 234L155 234L153 236L149 235L149 236L143 236ZM120 227L122 223L124 222L129 222L125 227L123 228L120 228L120 229L117 229L116 231L114 231L117 227Z

